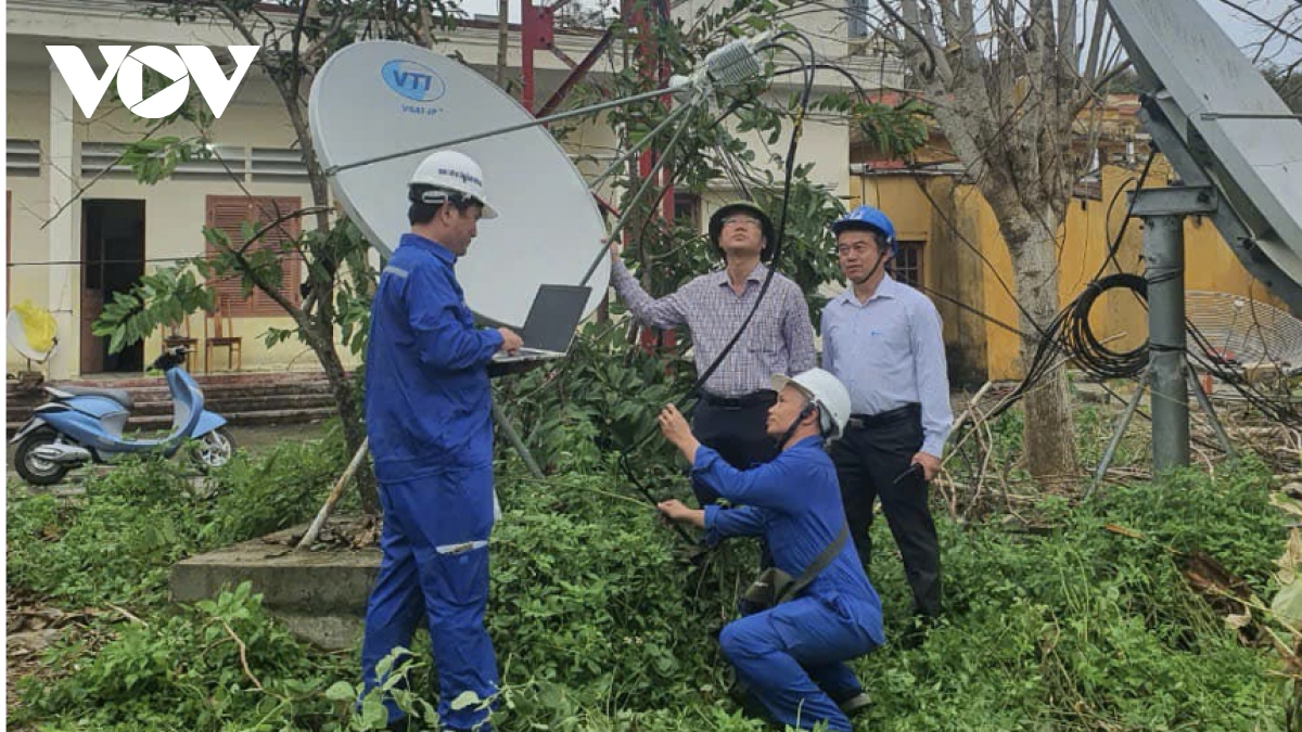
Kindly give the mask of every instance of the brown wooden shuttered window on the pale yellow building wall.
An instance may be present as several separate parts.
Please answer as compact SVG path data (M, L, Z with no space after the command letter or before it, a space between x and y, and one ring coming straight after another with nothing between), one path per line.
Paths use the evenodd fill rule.
M230 237L232 246L242 246L245 240L241 228L245 221L251 221L254 227L262 228L277 218L302 207L302 199L297 197L247 197L247 195L210 195L207 221L210 227L221 229ZM288 219L255 242L249 251L258 249L280 249L280 245L298 237L299 219ZM212 242L204 242L208 258L217 254ZM280 294L289 302L298 305L298 283L302 279L302 260L297 253L286 253L281 259ZM228 276L208 280L208 287L217 293L217 300L225 302L227 310L234 318L283 315L285 311L275 300L260 289L254 288L245 298L240 288L238 276Z

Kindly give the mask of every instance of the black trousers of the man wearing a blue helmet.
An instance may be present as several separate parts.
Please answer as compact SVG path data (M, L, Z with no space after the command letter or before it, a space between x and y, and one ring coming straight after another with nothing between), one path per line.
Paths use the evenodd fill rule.
M841 482L850 538L865 569L872 556L872 504L881 499L881 513L913 589L914 612L935 617L940 613L940 542L927 507L927 481L921 470L900 478L922 448L922 412L910 405L863 423L852 421L829 452Z

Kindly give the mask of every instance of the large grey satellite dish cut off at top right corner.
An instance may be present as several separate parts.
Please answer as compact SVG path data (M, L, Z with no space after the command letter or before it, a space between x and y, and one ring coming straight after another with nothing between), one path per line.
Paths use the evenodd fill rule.
M1144 126L1243 266L1302 314L1302 124L1194 0L1112 0L1141 82Z

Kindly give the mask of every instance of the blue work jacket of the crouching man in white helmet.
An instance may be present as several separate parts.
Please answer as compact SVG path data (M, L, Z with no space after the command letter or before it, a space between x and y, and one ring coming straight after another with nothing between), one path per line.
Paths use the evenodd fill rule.
M773 460L738 470L702 445L693 475L741 508L706 507L706 541L763 535L773 565L798 577L836 538L845 524L836 466L818 436L784 449ZM881 645L881 600L863 573L854 542L846 539L836 557L801 593L816 598L868 629Z

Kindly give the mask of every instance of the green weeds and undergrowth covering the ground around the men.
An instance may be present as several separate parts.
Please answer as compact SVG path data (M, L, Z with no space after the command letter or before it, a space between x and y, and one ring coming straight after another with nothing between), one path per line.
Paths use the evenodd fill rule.
M589 439L575 435L575 443ZM352 711L355 653L294 643L247 590L195 607L163 604L167 561L264 530L281 513L306 517L322 494L302 503L285 494L326 486L305 477L296 487L294 477L332 474L342 460L331 435L219 472L195 498L160 461L95 479L72 503L10 491L12 590L76 608L129 603L145 623L102 617L91 637L103 645L56 647L47 659L56 677L20 688L17 722L124 731L378 728L365 711L376 702ZM570 460L557 458L556 468L572 468ZM318 466L324 462L332 468ZM504 518L492 539L486 617L503 677L496 728L758 732L762 724L725 694L730 671L715 641L754 572L754 546L729 542L703 568L681 561L654 509L608 464L594 465L546 481L516 465L499 474ZM661 465L656 498L687 492L671 465ZM268 524L232 521L237 504L241 512L267 504ZM897 645L909 594L878 522L883 548L872 576L888 645L854 663L874 699L857 729L1282 727L1277 662L1268 649L1243 645L1181 574L1184 557L1204 552L1245 577L1254 594L1273 594L1269 570L1284 529L1259 464L1224 465L1216 479L1187 472L1107 486L1077 507L1042 499L1022 518L939 521L947 615L909 650ZM174 541L137 538L148 526L163 535L165 522ZM246 646L249 673L232 633ZM402 703L422 715L435 703L427 649L418 637L405 667L413 694Z

